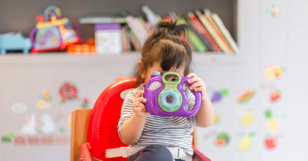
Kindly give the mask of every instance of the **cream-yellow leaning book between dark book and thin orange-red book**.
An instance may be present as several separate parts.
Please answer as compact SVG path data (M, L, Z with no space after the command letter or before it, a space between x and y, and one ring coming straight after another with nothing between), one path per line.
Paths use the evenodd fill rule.
M227 45L221 40L221 37L218 36L217 32L213 28L213 26L209 23L209 21L205 18L205 16L201 13L200 10L195 10L195 14L200 22L203 24L205 29L209 32L209 34L213 37L217 45L220 47L221 51L224 53L229 53L229 49Z

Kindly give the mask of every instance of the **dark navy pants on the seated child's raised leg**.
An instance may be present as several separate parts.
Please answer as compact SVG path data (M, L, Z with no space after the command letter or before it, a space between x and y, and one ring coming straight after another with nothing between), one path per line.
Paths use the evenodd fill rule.
M171 152L163 145L149 145L134 155L128 157L127 161L173 161ZM176 161L185 161L176 159Z

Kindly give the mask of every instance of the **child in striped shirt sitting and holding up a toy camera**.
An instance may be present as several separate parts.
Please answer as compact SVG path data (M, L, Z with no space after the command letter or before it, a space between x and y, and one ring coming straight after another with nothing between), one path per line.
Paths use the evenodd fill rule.
M189 45L180 38L185 29L189 29L189 26L176 25L176 20L162 20L144 43L135 73L137 88L124 99L118 124L121 140L132 147L128 161L190 161L193 155L193 136L190 135L193 124L208 127L213 123L214 109L206 93L205 83L195 73L190 73L192 52ZM202 104L197 115L184 118L148 114L144 107L147 100L142 94L153 71L160 71L161 74L176 72L191 78L189 83L196 82L186 87L185 91L188 110L195 105L195 96L191 92L195 90L202 93ZM168 79L177 81L177 77Z

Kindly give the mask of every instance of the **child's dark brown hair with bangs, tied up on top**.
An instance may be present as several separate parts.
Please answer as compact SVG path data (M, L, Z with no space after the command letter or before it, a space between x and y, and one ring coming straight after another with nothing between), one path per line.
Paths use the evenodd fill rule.
M185 76L190 73L192 51L181 36L190 31L191 27L187 24L176 23L177 18L171 17L171 21L161 20L144 42L140 59L143 62L142 69L144 72L158 62L164 71L173 67L176 69L184 67ZM135 68L133 77L137 78L136 86L144 83L144 79L139 74L138 66Z

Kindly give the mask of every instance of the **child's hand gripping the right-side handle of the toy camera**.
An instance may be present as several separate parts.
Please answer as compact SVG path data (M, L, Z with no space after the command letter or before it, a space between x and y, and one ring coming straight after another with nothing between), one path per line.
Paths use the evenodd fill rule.
M201 78L197 77L195 73L189 73L187 77L191 78L188 80L188 83L196 82L189 87L190 91L192 93L193 93L193 90L201 92L202 100L204 100L207 96L206 86L205 86L204 81Z

